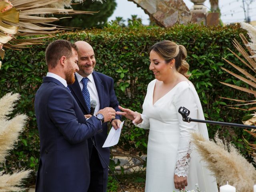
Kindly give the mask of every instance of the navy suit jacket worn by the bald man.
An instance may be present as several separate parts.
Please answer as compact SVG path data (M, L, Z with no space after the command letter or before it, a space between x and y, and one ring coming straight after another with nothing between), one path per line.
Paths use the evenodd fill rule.
M102 73L94 71L92 73L92 76L94 78L94 83L96 85L96 89L98 92L99 100L100 100L100 109L103 109L105 107L112 107L116 111L120 111L118 108L118 100L116 98L116 94L114 91L114 80L113 78L106 76ZM90 109L86 106L86 103L84 101L84 97L82 95L82 90L80 88L79 82L76 81L74 84L69 85L69 88L71 90L72 95L76 99L78 105L82 109L82 112L86 114L90 114ZM120 116L116 116L116 119L121 119ZM110 150L109 148L102 148L107 136L108 136L108 124L107 122L102 124L103 131L100 134L97 134L94 136L96 147L98 148L100 154L104 158L107 164L109 164L110 159ZM92 148L90 146L92 142L89 142L89 148ZM100 162L102 164L103 168L106 168L107 165L103 162L102 158L100 158Z

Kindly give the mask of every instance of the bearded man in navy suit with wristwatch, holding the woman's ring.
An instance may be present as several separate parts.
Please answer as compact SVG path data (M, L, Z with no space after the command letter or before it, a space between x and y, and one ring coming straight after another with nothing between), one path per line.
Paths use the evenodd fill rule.
M36 92L35 112L40 136L36 192L87 192L90 184L87 139L115 118L113 108L86 119L67 85L75 81L78 49L66 40L46 48L48 73Z

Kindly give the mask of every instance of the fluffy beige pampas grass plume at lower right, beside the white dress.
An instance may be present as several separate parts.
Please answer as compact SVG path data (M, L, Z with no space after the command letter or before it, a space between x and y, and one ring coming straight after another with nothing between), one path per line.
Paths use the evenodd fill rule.
M192 143L201 155L202 160L214 176L218 184L226 181L237 192L252 192L252 184L256 183L256 170L234 147L233 144L220 140L216 134L213 140L206 140L199 133L192 133Z

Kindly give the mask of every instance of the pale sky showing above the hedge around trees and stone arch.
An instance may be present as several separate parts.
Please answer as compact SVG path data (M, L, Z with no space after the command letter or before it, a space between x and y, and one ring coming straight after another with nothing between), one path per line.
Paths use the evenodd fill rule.
M194 4L190 0L184 0L188 8L190 9ZM244 0L246 17L249 16L251 21L256 20L256 0ZM136 6L134 2L128 0L116 0L117 6L113 15L108 18L108 21L114 20L116 17L122 17L127 20L131 18L131 15L138 15L139 18L142 18L142 23L147 25L149 24L149 16L144 13L142 8ZM249 4L249 6L248 6ZM206 0L204 5L210 9L210 2ZM222 22L228 24L232 22L242 22L244 21L244 9L242 0L219 0L219 7L221 11L221 20Z

